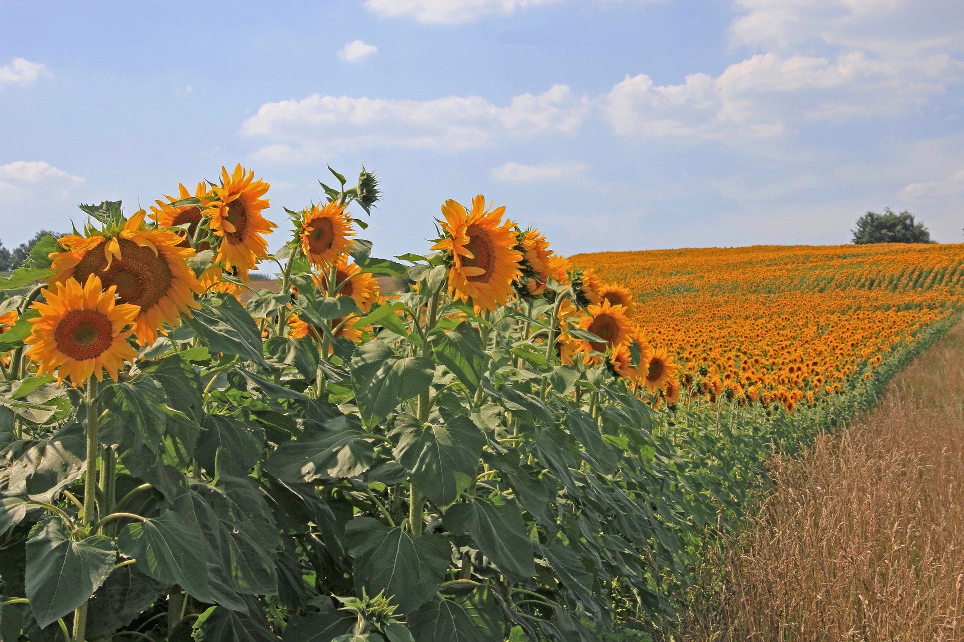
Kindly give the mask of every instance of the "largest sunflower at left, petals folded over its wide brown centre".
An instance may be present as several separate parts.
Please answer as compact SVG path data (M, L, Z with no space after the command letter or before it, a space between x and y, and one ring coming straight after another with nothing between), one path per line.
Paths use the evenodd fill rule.
M201 284L186 261L194 249L182 247L183 239L171 230L145 229L144 218L141 210L110 235L62 237L65 251L51 254L55 273L50 282L74 278L87 283L93 274L105 287L115 287L121 303L140 308L135 334L149 345L165 321L174 323L201 307L194 300Z

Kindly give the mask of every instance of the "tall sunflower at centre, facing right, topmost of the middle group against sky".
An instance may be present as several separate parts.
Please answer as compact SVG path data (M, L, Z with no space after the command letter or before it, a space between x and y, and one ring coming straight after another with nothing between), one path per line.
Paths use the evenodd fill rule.
M522 252L511 220L502 220L504 207L485 209L485 196L472 199L469 212L454 200L442 205L446 236L432 249L448 253L448 292L455 298L472 302L491 311L509 300L512 283L519 276Z

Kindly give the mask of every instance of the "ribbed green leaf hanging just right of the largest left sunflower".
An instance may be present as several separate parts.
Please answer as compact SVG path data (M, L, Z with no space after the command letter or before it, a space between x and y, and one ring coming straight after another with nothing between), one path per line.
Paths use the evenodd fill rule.
M211 352L236 354L267 367L261 352L261 330L234 296L219 294L203 300L201 310L195 310L194 318L187 322Z

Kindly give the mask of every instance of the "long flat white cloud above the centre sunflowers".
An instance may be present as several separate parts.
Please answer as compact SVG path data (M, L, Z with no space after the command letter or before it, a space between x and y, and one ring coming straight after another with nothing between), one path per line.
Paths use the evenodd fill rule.
M241 131L269 141L256 157L301 161L349 149L448 151L573 134L587 108L588 101L565 85L514 96L504 106L480 96L398 100L314 94L262 105Z

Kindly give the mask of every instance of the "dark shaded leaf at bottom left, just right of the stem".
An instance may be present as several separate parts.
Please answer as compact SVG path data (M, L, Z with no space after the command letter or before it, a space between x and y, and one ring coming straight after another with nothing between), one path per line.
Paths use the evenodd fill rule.
M87 636L96 638L126 627L157 602L164 584L128 565L114 569L87 609Z

